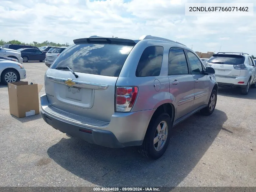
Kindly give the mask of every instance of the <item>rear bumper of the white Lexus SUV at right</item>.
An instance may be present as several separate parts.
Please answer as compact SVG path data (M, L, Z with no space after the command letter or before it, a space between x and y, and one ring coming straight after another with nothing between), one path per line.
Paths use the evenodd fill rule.
M249 77L236 77L236 78L226 78L226 77L218 77L216 76L216 81L218 82L218 86L222 87L246 87ZM244 82L244 83L238 83Z

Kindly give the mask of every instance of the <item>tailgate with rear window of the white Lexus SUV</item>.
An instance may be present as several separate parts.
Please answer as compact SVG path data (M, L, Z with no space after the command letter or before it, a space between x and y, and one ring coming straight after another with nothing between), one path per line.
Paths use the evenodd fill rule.
M243 64L245 57L234 54L214 54L207 62L215 69L216 77L236 78L240 76L240 69L234 69L235 65Z

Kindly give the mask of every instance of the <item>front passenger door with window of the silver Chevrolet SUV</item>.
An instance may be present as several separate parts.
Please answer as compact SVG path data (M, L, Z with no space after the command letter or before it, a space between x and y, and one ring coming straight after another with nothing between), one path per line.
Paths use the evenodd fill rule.
M191 74L194 78L193 109L196 109L201 105L208 104L210 77L204 74L200 59L188 50L186 50L186 53L191 67Z

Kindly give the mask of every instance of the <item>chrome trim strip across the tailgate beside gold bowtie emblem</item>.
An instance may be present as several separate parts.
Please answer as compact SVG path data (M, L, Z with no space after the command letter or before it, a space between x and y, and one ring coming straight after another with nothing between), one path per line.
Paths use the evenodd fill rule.
M46 75L46 78L49 79L50 81L54 81L56 83L62 83L64 85L65 85L65 81L68 80L66 78L53 77L53 76L49 76L49 75ZM75 86L72 86L72 87L80 87L80 88L86 88L86 89L98 89L98 90L108 89L108 85L99 84L99 83L77 81L74 79L72 80L72 82L75 82Z

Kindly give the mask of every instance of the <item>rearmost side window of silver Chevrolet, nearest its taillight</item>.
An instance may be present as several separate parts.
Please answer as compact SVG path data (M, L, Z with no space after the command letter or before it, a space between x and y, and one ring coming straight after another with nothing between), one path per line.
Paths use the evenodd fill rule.
M139 60L136 77L159 76L162 66L164 48L162 46L147 47Z

